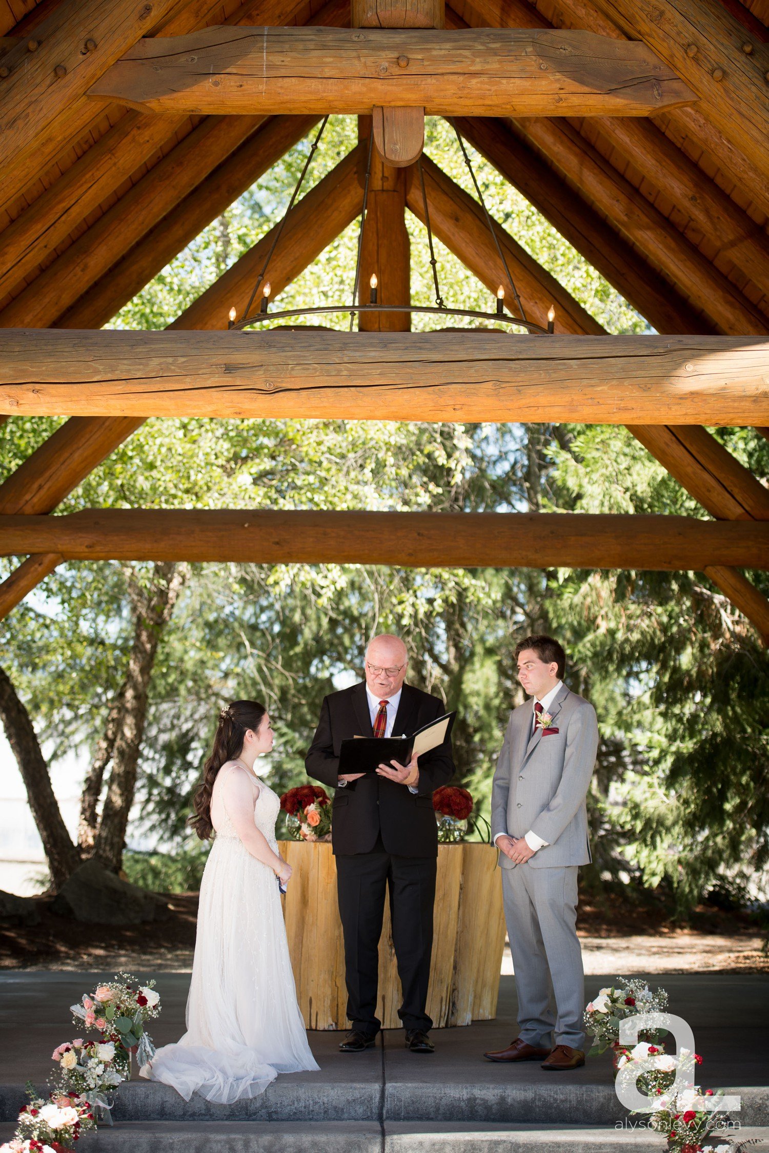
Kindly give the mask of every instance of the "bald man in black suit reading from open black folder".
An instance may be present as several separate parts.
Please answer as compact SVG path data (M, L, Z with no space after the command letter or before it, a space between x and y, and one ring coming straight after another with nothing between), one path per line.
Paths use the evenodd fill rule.
M374 1046L382 1025L376 1016L378 945L387 888L406 1047L413 1053L435 1048L425 1012L438 857L432 793L454 774L451 739L408 764L391 761L375 773L339 776L342 740L410 736L445 713L439 698L405 684L407 671L402 640L375 636L365 650L365 679L324 699L304 762L310 777L336 789L332 847L352 1023L339 1046L344 1053Z

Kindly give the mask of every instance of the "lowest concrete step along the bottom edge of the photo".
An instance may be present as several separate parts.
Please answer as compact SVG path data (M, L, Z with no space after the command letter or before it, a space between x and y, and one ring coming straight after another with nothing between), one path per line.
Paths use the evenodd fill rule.
M7 1140L10 1126L0 1126ZM740 1140L769 1140L769 1129L742 1129ZM504 1125L450 1122L119 1122L89 1135L92 1153L664 1153L648 1129L611 1125Z

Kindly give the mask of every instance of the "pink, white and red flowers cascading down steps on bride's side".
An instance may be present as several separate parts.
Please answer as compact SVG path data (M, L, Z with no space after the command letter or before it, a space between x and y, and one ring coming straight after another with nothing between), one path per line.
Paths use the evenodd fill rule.
M84 1132L96 1129L97 1120L112 1124L114 1102L108 1094L130 1078L133 1054L140 1064L154 1054L144 1028L160 1012L154 981L140 985L130 973L116 973L95 993L84 993L70 1011L76 1024L101 1037L95 1041L77 1037L56 1046L47 1099L27 1083L29 1105L22 1106L16 1132L0 1145L0 1153L66 1153Z

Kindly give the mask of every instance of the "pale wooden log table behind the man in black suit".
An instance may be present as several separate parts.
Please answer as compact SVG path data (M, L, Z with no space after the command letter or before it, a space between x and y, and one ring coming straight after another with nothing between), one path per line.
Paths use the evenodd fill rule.
M284 911L302 1016L308 1028L348 1028L337 867L331 845L282 841L280 852L294 871ZM439 845L427 1004L436 1028L493 1019L504 947L497 850L477 843ZM385 903L377 1002L383 1028L401 1027L399 1004L400 981Z

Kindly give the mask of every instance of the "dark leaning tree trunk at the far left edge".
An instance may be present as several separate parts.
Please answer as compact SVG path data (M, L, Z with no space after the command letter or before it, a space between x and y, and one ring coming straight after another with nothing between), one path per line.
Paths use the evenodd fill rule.
M80 854L67 831L51 777L27 708L18 699L8 673L0 668L0 716L27 789L54 889L63 884L80 865Z

